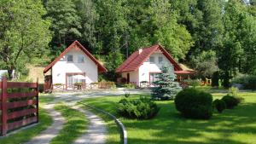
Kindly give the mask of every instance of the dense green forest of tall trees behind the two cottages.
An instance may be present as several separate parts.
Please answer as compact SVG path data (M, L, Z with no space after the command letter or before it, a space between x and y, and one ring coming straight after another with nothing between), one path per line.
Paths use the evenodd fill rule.
M201 78L256 75L256 0L1 0L0 69L26 75L79 40L108 68L160 43ZM215 74L214 74L215 73Z

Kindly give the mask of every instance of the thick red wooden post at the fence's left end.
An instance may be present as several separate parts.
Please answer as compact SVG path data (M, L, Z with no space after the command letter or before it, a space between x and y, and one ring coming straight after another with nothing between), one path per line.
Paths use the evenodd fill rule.
M2 79L2 135L7 133L7 78L3 77Z

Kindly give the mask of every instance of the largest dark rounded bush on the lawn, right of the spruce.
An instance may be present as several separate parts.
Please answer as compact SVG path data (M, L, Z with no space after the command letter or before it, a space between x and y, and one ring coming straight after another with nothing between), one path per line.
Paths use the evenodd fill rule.
M212 117L212 95L198 89L183 89L175 100L177 111L186 118L209 119Z

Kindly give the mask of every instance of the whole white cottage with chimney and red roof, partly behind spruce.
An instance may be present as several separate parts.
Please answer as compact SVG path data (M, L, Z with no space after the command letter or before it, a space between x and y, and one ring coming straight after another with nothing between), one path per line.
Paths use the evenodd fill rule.
M116 72L120 73L127 83L136 84L138 87L151 87L154 86L156 75L164 65L172 67L172 72L178 76L194 73L183 71L172 55L159 44L137 50L116 69Z

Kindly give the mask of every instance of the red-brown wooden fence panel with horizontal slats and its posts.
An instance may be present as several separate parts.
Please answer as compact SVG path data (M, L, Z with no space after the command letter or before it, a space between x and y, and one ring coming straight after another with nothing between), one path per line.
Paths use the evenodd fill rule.
M0 81L1 135L38 123L38 83Z

